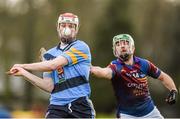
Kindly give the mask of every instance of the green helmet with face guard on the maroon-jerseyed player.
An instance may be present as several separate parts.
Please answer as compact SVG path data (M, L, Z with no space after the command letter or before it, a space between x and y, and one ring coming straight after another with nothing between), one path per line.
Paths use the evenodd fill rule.
M127 51L122 52L117 50L116 45L120 42L127 42L128 47ZM127 61L130 56L134 53L134 40L129 34L120 34L113 37L113 53L115 57L122 59L123 61Z

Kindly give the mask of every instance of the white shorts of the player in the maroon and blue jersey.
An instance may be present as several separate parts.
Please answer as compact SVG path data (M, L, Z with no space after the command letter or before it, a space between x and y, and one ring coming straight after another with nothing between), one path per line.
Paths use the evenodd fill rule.
M154 107L154 109L149 114L147 114L145 116L136 117L136 116L121 113L121 119L123 119L123 118L156 118L156 119L164 119L164 117L161 115L161 113L156 108L156 106Z

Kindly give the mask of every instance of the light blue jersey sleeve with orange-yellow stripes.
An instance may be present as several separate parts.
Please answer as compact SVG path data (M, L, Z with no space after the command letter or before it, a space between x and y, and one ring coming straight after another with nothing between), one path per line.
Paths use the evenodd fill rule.
M89 47L81 42L71 46L71 48L65 51L61 56L68 60L68 65L74 65L83 61L90 63L91 60Z

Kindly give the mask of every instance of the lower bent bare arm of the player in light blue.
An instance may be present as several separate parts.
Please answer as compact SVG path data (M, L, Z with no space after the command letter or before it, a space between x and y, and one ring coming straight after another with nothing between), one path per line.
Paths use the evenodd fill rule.
M35 76L34 74L24 70L21 67L16 67L15 70L18 70L18 72L13 73L14 76L24 76L27 81L32 83L34 86L37 86L38 88L46 91L46 92L52 92L54 88L53 80L51 78L39 78Z

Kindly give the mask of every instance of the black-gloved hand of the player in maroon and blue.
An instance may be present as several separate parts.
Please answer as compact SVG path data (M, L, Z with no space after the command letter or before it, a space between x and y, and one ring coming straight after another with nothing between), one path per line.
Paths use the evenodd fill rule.
M176 95L177 95L177 91L176 90L171 90L168 94L168 96L166 97L166 102L170 105L173 105L176 103Z

